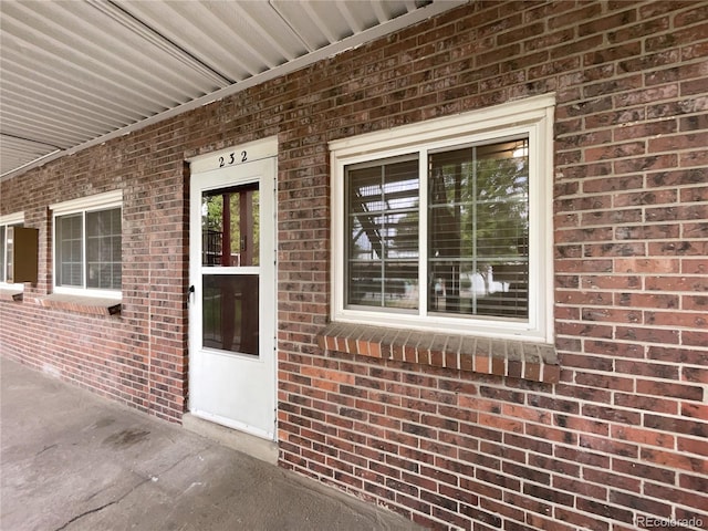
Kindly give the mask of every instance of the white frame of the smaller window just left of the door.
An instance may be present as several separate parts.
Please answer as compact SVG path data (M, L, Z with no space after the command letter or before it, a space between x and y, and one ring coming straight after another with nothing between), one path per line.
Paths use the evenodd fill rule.
M72 199L70 201L58 202L54 205L50 205L49 208L52 211L52 284L53 284L52 287L53 287L54 293L121 300L122 290L101 290L95 288L86 288L85 252L83 257L83 267L84 267L83 284L84 285L82 288L56 285L56 268L59 266L56 261L56 218L61 216L73 215L73 214L84 215L84 223L82 223L83 225L82 242L85 248L86 212L93 212L97 210L108 210L112 208L121 208L121 215L123 215L123 190L114 190L114 191L108 191L106 194L97 194L95 196L81 197L79 199Z

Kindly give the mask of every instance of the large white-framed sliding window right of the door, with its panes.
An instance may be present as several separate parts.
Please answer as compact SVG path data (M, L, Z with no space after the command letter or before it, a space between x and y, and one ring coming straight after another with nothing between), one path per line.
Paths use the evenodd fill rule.
M333 142L333 319L551 341L552 108Z

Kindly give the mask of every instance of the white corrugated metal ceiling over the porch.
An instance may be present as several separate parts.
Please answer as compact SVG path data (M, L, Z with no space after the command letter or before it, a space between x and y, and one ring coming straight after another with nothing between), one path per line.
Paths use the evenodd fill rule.
M300 69L466 0L0 1L0 174Z

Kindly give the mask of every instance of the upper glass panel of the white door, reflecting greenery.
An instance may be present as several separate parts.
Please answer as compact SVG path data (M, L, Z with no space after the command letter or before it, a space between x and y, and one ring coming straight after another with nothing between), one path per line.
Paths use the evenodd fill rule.
M258 184L201 195L201 264L259 264Z

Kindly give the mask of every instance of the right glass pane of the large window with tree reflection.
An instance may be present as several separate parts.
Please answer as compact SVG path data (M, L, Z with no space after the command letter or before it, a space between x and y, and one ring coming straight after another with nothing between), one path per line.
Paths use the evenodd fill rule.
M429 156L430 312L528 317L528 153L520 139Z

